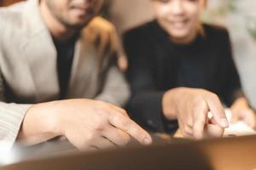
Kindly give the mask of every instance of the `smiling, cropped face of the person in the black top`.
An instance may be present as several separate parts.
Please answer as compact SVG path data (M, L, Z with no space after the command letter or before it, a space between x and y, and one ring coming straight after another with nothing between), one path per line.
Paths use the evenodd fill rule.
M204 0L151 0L154 15L160 26L177 40L196 34Z

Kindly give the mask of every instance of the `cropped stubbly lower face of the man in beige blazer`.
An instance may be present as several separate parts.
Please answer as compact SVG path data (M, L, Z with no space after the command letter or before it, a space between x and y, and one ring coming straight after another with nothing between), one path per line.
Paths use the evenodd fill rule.
M61 24L83 28L102 8L103 0L42 0Z

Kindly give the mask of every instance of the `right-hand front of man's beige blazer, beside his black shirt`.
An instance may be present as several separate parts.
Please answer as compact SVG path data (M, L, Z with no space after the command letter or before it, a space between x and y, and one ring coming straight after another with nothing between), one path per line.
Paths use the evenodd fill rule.
M76 42L67 98L94 98L96 95L99 55L90 33L89 29L84 29Z

